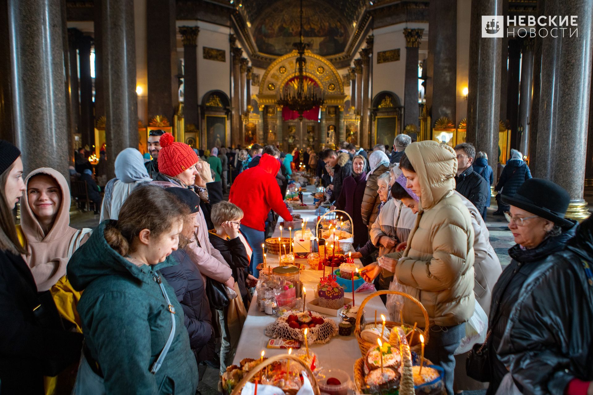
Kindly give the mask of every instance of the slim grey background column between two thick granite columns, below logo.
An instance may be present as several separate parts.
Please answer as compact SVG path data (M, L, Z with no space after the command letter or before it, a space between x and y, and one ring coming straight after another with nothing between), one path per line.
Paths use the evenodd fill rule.
M529 124L531 92L533 88L533 38L524 38L521 43L521 92L519 93L518 139L523 155L529 150Z

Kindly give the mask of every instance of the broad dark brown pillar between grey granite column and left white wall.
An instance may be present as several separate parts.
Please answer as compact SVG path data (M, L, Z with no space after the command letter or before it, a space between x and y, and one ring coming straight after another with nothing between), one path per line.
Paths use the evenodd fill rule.
M175 0L146 0L148 119L164 115L170 123L178 95L175 18Z

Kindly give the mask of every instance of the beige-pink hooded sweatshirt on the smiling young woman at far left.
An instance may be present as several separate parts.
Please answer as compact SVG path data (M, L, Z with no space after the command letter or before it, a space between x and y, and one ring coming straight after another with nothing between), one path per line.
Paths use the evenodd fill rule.
M25 240L27 240L28 255L23 259L33 273L39 292L47 291L58 282L60 277L66 274L68 264L69 246L78 229L70 225L70 189L68 182L60 172L52 168L40 168L30 172L25 178L25 185L28 185L32 176L46 174L56 180L62 191L62 203L58 209L52 229L43 232L42 226L37 221L28 201L28 194L25 192L21 197L21 229ZM88 235L78 236L80 243L88 239ZM78 240L74 240L78 242Z

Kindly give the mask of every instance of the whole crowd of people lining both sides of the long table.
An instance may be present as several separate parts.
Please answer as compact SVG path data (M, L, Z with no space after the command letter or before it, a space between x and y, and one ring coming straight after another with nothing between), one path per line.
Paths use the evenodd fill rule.
M17 147L0 140L2 395L193 395L206 366L222 374L259 246L278 216L293 220L283 197L298 171L352 217L365 280L428 311L425 355L444 368L447 394L511 383L524 394L593 395L593 220L566 219L568 192L531 178L520 152L499 177L470 143L406 134L368 152L347 142L203 152L153 130L148 153L117 155L115 178L93 189L100 224L75 229L66 178L51 168L23 175ZM75 165L71 181L95 182L88 160ZM493 185L494 214L515 240L504 270L486 227ZM411 301L383 301L424 322ZM455 355L479 310L486 341Z

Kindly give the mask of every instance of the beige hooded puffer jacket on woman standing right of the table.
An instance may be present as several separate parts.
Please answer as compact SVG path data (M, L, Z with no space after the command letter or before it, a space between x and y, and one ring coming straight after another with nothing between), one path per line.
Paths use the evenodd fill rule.
M434 141L412 143L406 155L420 178L419 213L396 277L406 292L428 311L430 325L454 326L474 311L474 229L470 212L455 195L455 151ZM404 320L422 326L424 319L412 301L403 308Z

